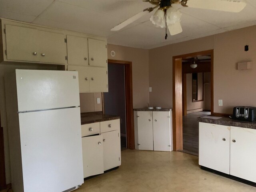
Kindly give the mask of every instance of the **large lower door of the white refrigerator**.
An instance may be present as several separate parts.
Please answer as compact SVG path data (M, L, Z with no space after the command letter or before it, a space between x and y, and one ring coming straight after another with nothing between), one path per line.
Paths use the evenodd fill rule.
M84 183L80 108L19 114L24 192Z

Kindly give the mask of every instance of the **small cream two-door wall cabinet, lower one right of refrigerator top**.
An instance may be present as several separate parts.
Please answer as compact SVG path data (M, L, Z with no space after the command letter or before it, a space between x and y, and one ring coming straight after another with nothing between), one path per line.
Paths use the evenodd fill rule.
M108 92L108 70L100 67L68 65L69 71L78 71L79 92Z

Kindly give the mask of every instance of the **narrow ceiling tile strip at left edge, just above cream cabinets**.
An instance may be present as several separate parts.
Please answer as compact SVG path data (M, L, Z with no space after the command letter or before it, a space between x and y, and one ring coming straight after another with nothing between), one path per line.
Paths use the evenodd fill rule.
M1 9L0 9L0 17L22 21L22 22L28 22L28 23L32 22L36 18L36 16L20 14L20 13L1 10Z

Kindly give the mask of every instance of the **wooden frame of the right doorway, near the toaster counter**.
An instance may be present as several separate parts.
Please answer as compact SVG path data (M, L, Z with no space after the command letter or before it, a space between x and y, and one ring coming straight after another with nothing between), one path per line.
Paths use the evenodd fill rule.
M214 79L213 79L213 64L214 50L206 50L194 52L184 55L172 57L172 94L173 94L173 147L174 151L183 150L183 135L182 135L182 59L191 58L202 55L211 55L211 114L214 114Z

